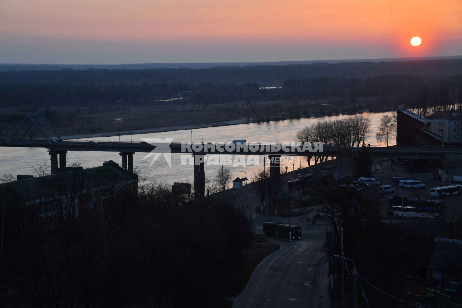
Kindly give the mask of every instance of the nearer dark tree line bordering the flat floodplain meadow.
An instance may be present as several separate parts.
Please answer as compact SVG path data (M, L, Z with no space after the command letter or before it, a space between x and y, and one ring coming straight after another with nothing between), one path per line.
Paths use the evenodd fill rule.
M135 104L163 101L171 104L214 104L256 101L285 101L292 104L324 101L321 113L335 110L345 113L359 106L363 98L373 99L369 109L395 109L404 103L418 109L420 115L438 108L460 108L462 75L445 79L426 79L409 75L384 75L358 79L316 77L287 79L282 88L260 88L258 83L214 85L141 84L141 85L71 85L71 84L0 84L0 102L4 106L67 104ZM167 101L170 100L170 101ZM181 101L181 102L180 102ZM327 103L327 104L326 104ZM205 105L204 105L205 108ZM293 109L293 108L292 108ZM324 110L324 111L323 111ZM296 110L292 110L296 113ZM323 111L323 112L322 112Z

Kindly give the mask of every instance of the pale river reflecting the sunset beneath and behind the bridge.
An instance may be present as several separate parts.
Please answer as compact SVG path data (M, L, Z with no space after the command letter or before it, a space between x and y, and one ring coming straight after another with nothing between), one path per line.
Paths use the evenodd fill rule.
M390 113L375 113L369 114L371 119L371 135L365 139L365 143L371 145L377 145L375 139L375 132L380 126L380 118ZM276 142L276 127L277 127L277 139L279 143L295 141L295 134L305 126L316 123L317 121L329 121L337 120L341 118L347 118L352 115L338 115L321 118L302 118L298 120L284 120L277 122L267 123L249 123L249 124L237 124L221 127L207 127L192 130L192 140L194 142L201 142L202 135L204 142L230 142L234 139L246 139L247 142L266 142L267 138L270 142ZM269 129L269 133L268 132ZM133 134L123 136L112 136L112 137L99 137L99 138L86 138L80 140L115 140L118 141L141 141L146 138L173 138L173 141L191 141L191 130L177 130L163 133L145 133L145 134ZM395 144L395 140L390 142L390 145ZM155 179L158 181L173 183L181 181L189 181L192 183L194 176L194 167L181 164L181 154L172 154L171 169L166 163L164 157L159 157L158 160L150 167L152 157L147 157L146 153L135 153L133 155L134 166L139 166L141 173L146 175L149 179ZM69 151L67 153L67 165L73 162L81 163L84 167L96 167L102 165L103 161L114 160L116 163L121 164L122 159L118 152L78 152ZM1 147L0 148L0 175L12 173L16 175L35 175L34 170L31 168L37 163L46 161L49 163L49 155L46 149L43 148L13 148L13 147ZM295 162L286 163L283 165L283 171L285 172L285 166L287 166L288 172L291 172L293 168L297 169L299 159L296 158ZM302 166L306 166L306 158L301 161ZM253 178L254 172L262 168L262 165L251 165L251 166L229 166L233 173L233 177L243 177L244 173L237 171L243 169L249 180ZM206 178L213 181L214 176L217 174L219 165L211 165L206 163L205 172ZM212 184L207 184L210 186Z

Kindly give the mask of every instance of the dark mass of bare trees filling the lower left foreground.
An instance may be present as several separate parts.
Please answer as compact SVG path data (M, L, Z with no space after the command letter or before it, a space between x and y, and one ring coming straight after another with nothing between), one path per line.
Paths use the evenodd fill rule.
M249 241L231 207L196 204L158 183L51 231L7 234L0 307L220 307Z

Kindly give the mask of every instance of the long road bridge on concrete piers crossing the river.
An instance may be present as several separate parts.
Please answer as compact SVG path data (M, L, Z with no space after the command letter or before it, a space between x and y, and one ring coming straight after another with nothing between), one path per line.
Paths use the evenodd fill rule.
M225 144L205 143L182 143L182 142L124 142L124 141L96 141L96 140L1 140L0 146L7 147L38 147L49 149L51 161L51 173L63 172L66 169L67 151L103 151L119 152L122 157L122 168L133 171L133 154L135 152L149 153L159 149L170 149L171 153L191 154L195 160L194 183L195 187L205 189L204 156L209 154L231 155L268 155L270 159L270 177L279 174L279 158L281 156L304 156L304 157L339 157L356 156L360 147L332 147L303 148L295 146L295 143L260 143L253 146L247 145L241 148L232 143ZM227 148L225 148L227 146ZM425 147L371 147L372 155L377 158L420 158L420 159L443 159L445 154L462 154L462 148L425 148ZM59 157L59 160L58 160ZM59 161L59 167L58 167Z

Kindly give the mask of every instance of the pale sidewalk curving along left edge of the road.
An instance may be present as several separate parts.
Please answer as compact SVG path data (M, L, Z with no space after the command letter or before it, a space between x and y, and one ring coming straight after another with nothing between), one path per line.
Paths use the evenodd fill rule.
M241 295L237 296L236 300L234 301L234 304L232 306L233 308L250 307L250 305L252 305L252 302L254 301L255 295L258 291L258 288L260 287L263 277L265 277L266 272L274 263L274 261L278 260L280 256L286 254L292 248L300 245L300 243L291 244L287 242L281 242L280 245L281 248L278 251L267 256L265 259L263 259L263 261L260 262L259 265L257 265L255 271L250 277L249 282L247 282L247 285L245 286Z

